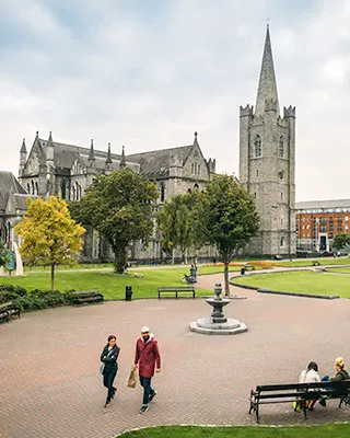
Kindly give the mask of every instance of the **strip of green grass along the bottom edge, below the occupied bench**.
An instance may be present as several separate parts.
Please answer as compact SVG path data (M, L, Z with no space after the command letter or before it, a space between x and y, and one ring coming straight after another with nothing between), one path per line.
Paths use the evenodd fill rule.
M161 426L121 434L122 438L348 438L349 424L294 427Z

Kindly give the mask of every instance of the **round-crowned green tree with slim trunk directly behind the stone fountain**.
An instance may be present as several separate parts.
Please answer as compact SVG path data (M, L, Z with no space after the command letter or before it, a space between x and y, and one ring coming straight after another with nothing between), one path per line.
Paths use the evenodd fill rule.
M196 222L203 241L215 245L224 264L225 295L230 295L229 263L259 229L252 195L235 178L215 175L197 203Z

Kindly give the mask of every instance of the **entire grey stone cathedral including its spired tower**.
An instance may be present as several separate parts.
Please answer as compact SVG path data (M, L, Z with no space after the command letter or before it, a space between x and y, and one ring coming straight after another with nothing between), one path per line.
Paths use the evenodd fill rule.
M9 244L13 226L25 211L26 197L59 195L79 200L96 175L130 168L156 183L154 211L173 195L202 189L215 173L215 160L206 160L195 132L192 142L170 149L126 154L90 146L73 146L36 132L30 151L23 140L19 181L0 172L0 233ZM4 175L5 174L5 175ZM2 184L1 181L4 183ZM240 110L240 181L255 198L260 231L245 253L258 256L295 254L295 107L280 113L269 27L267 27L256 105ZM148 246L130 247L129 257L147 263L162 260L160 237L154 228ZM201 254L209 258L213 249ZM84 235L82 262L110 260L110 249L94 230Z

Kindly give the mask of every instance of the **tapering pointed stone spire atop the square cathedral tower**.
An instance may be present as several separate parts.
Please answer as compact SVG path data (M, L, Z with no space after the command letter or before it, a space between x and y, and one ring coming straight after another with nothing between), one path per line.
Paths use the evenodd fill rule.
M267 25L267 31L266 31L259 87L255 105L255 115L264 114L265 102L267 100L276 102L277 115L279 115L280 110L278 103L277 82L273 68L273 57L272 57L269 25Z

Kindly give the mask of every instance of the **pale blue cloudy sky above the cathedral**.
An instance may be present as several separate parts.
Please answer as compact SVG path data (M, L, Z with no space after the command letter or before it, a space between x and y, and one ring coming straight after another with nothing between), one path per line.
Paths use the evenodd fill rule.
M296 107L296 200L350 197L350 0L0 0L0 170L40 138L126 153L190 145L238 176L266 25Z

